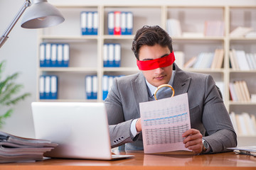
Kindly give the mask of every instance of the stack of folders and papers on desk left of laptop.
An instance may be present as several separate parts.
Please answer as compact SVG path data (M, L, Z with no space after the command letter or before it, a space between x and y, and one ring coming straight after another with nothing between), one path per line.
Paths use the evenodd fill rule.
M43 153L57 144L48 140L17 137L0 131L0 163L43 160Z

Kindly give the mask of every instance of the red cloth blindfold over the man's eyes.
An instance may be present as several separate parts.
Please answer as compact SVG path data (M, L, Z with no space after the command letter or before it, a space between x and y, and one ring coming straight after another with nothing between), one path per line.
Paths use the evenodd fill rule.
M174 52L171 52L169 55L155 59L155 60L146 60L146 61L137 60L137 66L139 67L140 70L151 70L151 69L170 66L171 64L174 63L174 61L175 61Z

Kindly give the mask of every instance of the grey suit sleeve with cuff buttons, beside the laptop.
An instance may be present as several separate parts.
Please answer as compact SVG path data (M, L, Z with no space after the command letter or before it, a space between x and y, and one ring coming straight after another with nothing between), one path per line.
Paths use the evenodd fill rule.
M125 121L117 79L114 79L112 88L105 99L105 106L109 122L111 147L133 142L130 132L132 120Z

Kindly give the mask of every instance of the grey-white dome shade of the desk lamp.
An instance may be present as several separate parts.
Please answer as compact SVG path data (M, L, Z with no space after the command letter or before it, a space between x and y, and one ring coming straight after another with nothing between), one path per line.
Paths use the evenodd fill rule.
M27 8L21 21L22 28L46 28L65 21L57 8L48 4L47 0L34 0Z

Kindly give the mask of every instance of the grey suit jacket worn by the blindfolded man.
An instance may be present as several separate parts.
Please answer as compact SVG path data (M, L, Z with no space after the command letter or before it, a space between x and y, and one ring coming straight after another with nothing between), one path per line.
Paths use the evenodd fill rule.
M212 152L225 152L237 145L237 136L213 77L183 72L176 64L175 96L188 93L191 128L200 130ZM105 100L112 147L125 145L126 150L143 149L142 134L132 138L132 120L140 118L139 103L149 101L142 72L114 79Z

